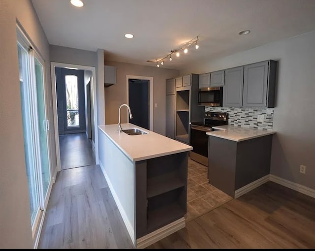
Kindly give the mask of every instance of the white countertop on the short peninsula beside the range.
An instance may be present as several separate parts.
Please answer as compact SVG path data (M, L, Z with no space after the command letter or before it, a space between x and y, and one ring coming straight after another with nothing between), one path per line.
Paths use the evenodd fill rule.
M217 129L218 131L209 131L207 132L208 135L237 142L276 133L275 131L271 130L252 129L229 125L213 126L212 128Z

